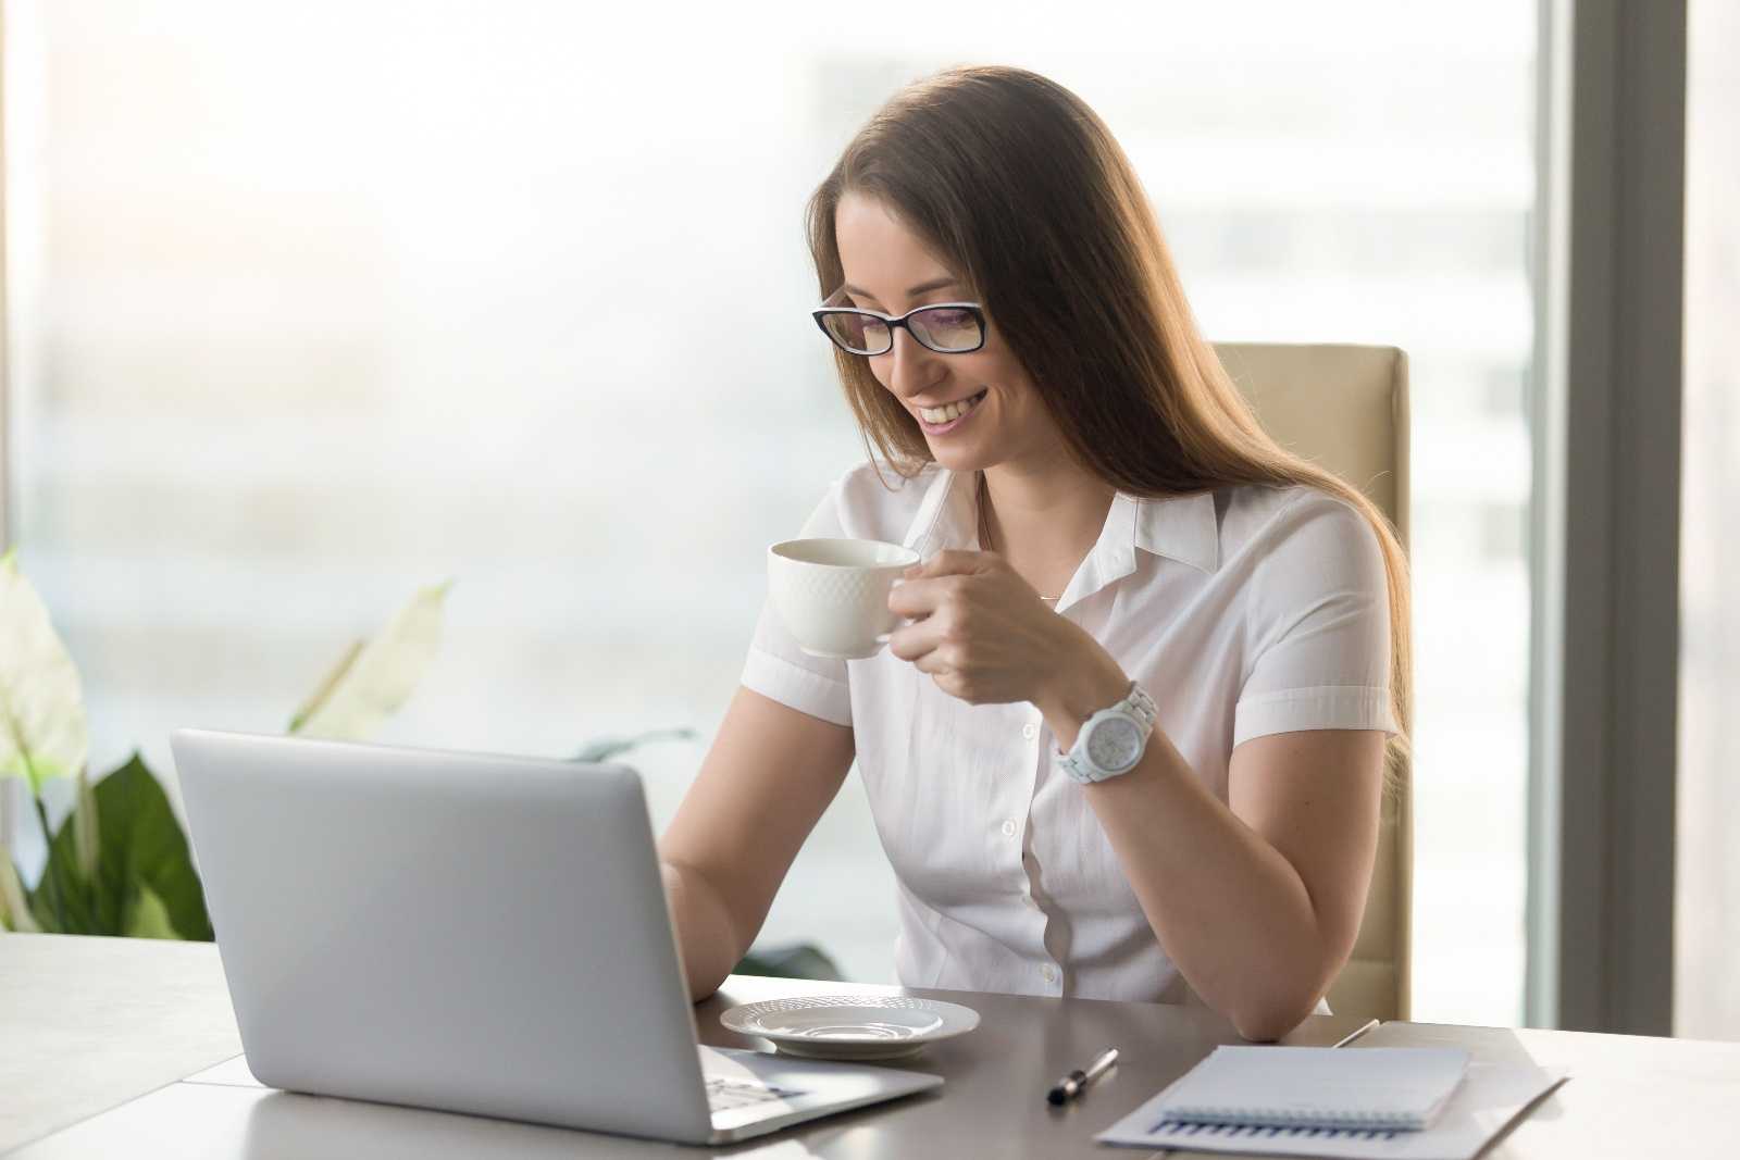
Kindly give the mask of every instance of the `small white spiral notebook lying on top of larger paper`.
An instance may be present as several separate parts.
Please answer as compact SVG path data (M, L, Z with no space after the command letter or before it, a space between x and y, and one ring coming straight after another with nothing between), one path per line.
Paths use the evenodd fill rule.
M1453 1047L1216 1047L1166 1090L1161 1113L1197 1123L1418 1129L1469 1052Z

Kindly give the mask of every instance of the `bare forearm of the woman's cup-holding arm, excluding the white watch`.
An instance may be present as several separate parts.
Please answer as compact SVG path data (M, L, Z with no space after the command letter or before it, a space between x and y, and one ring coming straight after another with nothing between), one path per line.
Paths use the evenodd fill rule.
M1035 703L1068 750L1129 678L1094 645ZM1162 730L1128 774L1082 786L1148 925L1185 981L1246 1038L1298 1024L1340 967L1293 864L1194 774Z

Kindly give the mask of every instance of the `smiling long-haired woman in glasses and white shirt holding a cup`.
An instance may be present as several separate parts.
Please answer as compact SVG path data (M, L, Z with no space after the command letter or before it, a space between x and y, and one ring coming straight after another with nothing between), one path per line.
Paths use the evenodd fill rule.
M900 92L809 235L884 463L802 534L922 562L870 659L811 657L762 612L659 843L691 993L748 948L856 757L903 984L1199 998L1279 1038L1371 878L1406 720L1394 534L1263 435L1128 158L1060 85L971 68Z

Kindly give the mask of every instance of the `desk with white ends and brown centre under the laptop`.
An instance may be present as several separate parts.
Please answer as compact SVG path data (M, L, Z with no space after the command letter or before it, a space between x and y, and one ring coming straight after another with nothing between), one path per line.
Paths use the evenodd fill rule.
M696 1009L701 1038L766 1047L719 1026L719 1012L774 995L900 988L727 981ZM912 1066L945 1075L938 1094L816 1120L724 1150L851 1157L1141 1157L1093 1144L1232 1028L1201 1009L907 991L976 1007L981 1026ZM1335 1043L1359 1023L1314 1016L1293 1043ZM1484 1059L1528 1057L1573 1071L1509 1136L1495 1160L1571 1157L1740 1157L1740 1043L1568 1031L1389 1023L1352 1047L1453 1042ZM1105 1043L1124 1061L1061 1111L1049 1083ZM240 1050L211 944L0 934L0 1151L61 1157L698 1157L616 1136L294 1096L254 1087L235 1068L176 1082ZM238 1085L240 1083L240 1085Z

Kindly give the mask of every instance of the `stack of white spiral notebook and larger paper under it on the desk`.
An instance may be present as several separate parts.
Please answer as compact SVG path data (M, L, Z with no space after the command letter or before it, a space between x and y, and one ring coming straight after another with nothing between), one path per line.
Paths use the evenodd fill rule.
M1094 1139L1347 1160L1469 1160L1564 1080L1439 1047L1220 1047Z

